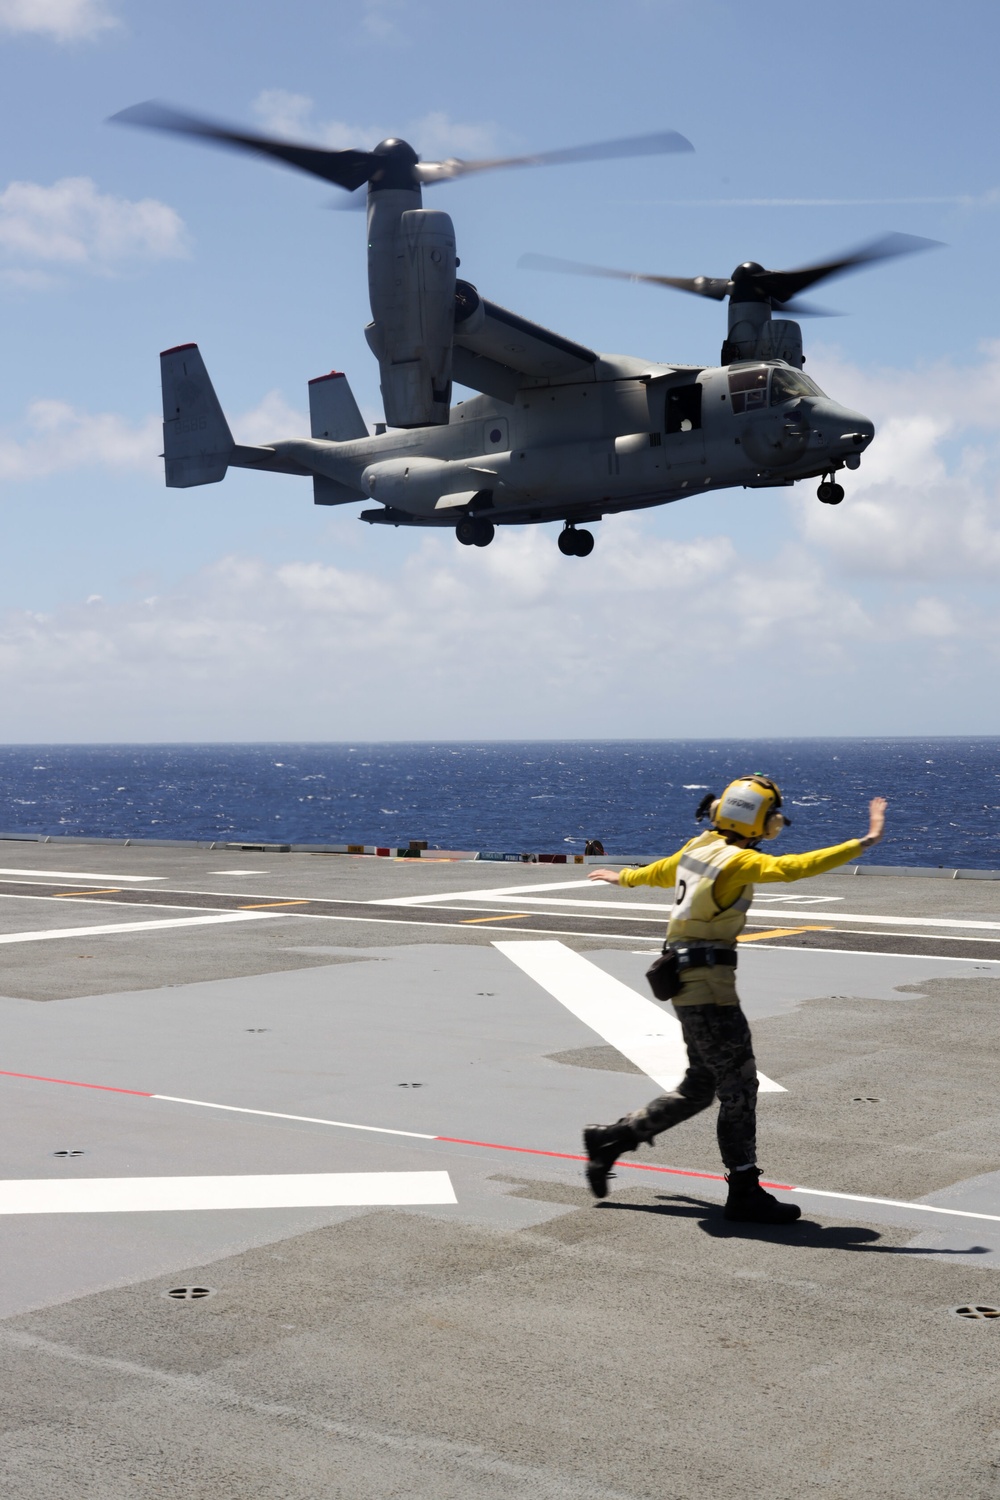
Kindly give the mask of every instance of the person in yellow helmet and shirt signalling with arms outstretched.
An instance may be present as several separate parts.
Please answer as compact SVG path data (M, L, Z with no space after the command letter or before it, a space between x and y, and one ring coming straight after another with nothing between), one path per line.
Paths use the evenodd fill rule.
M790 1224L795 1203L780 1203L760 1186L757 1168L757 1064L750 1026L736 994L736 939L747 924L754 882L804 880L856 860L882 838L886 801L868 804L864 838L808 854L768 855L757 844L775 838L790 822L778 808L781 792L766 776L748 776L721 798L702 800L700 820L712 826L667 860L642 870L594 870L591 880L609 885L676 885L664 956L676 963L673 1005L688 1048L688 1071L672 1094L661 1094L615 1125L583 1131L586 1179L595 1197L607 1197L612 1167L640 1142L679 1125L718 1096L718 1144L726 1164L726 1218L753 1224ZM673 988L673 984L670 986Z

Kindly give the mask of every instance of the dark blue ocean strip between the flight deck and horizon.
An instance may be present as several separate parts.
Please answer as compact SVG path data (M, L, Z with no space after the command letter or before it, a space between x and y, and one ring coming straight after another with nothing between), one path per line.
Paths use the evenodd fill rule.
M705 790L781 786L775 850L858 837L877 864L1000 868L1000 738L0 747L0 832L666 854Z

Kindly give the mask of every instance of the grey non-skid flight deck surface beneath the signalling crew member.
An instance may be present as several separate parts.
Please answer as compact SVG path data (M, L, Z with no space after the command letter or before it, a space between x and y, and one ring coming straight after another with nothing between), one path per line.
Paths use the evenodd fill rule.
M163 888L163 908L108 910L25 886L0 900L0 934L192 915L166 909L171 888L445 904L580 878L0 854L28 872L4 880L96 872ZM825 910L1000 921L996 885L796 890ZM142 1096L576 1154L586 1119L655 1088L493 946L514 922L460 926L510 908L465 904L438 928L376 908L370 922L270 915L0 945L6 1072L138 1090L0 1077L1 1178L445 1170L457 1197L0 1215L4 1497L994 1500L1000 1326L952 1310L1000 1305L1000 1222L804 1197L796 1228L741 1228L714 1178L622 1170L598 1206L570 1160ZM948 928L921 932L949 954ZM561 940L642 993L655 938ZM741 954L741 988L760 1065L787 1089L760 1102L771 1176L1000 1215L999 963L930 958L903 938L895 957L765 939ZM72 1149L85 1155L52 1155ZM712 1118L636 1160L717 1173ZM181 1286L211 1296L162 1294Z

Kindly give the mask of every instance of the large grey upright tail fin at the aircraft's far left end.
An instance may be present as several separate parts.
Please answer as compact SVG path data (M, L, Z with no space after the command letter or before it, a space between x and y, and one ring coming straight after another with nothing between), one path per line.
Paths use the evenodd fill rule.
M235 446L196 344L160 354L160 384L168 488L217 484Z

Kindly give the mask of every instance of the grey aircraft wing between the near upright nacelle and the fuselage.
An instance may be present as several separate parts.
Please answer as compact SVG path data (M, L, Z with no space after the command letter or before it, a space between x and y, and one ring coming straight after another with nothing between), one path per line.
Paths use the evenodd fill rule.
M583 344L508 312L480 297L469 282L459 282L453 374L462 386L511 402L525 376L565 380L585 375L597 360Z

